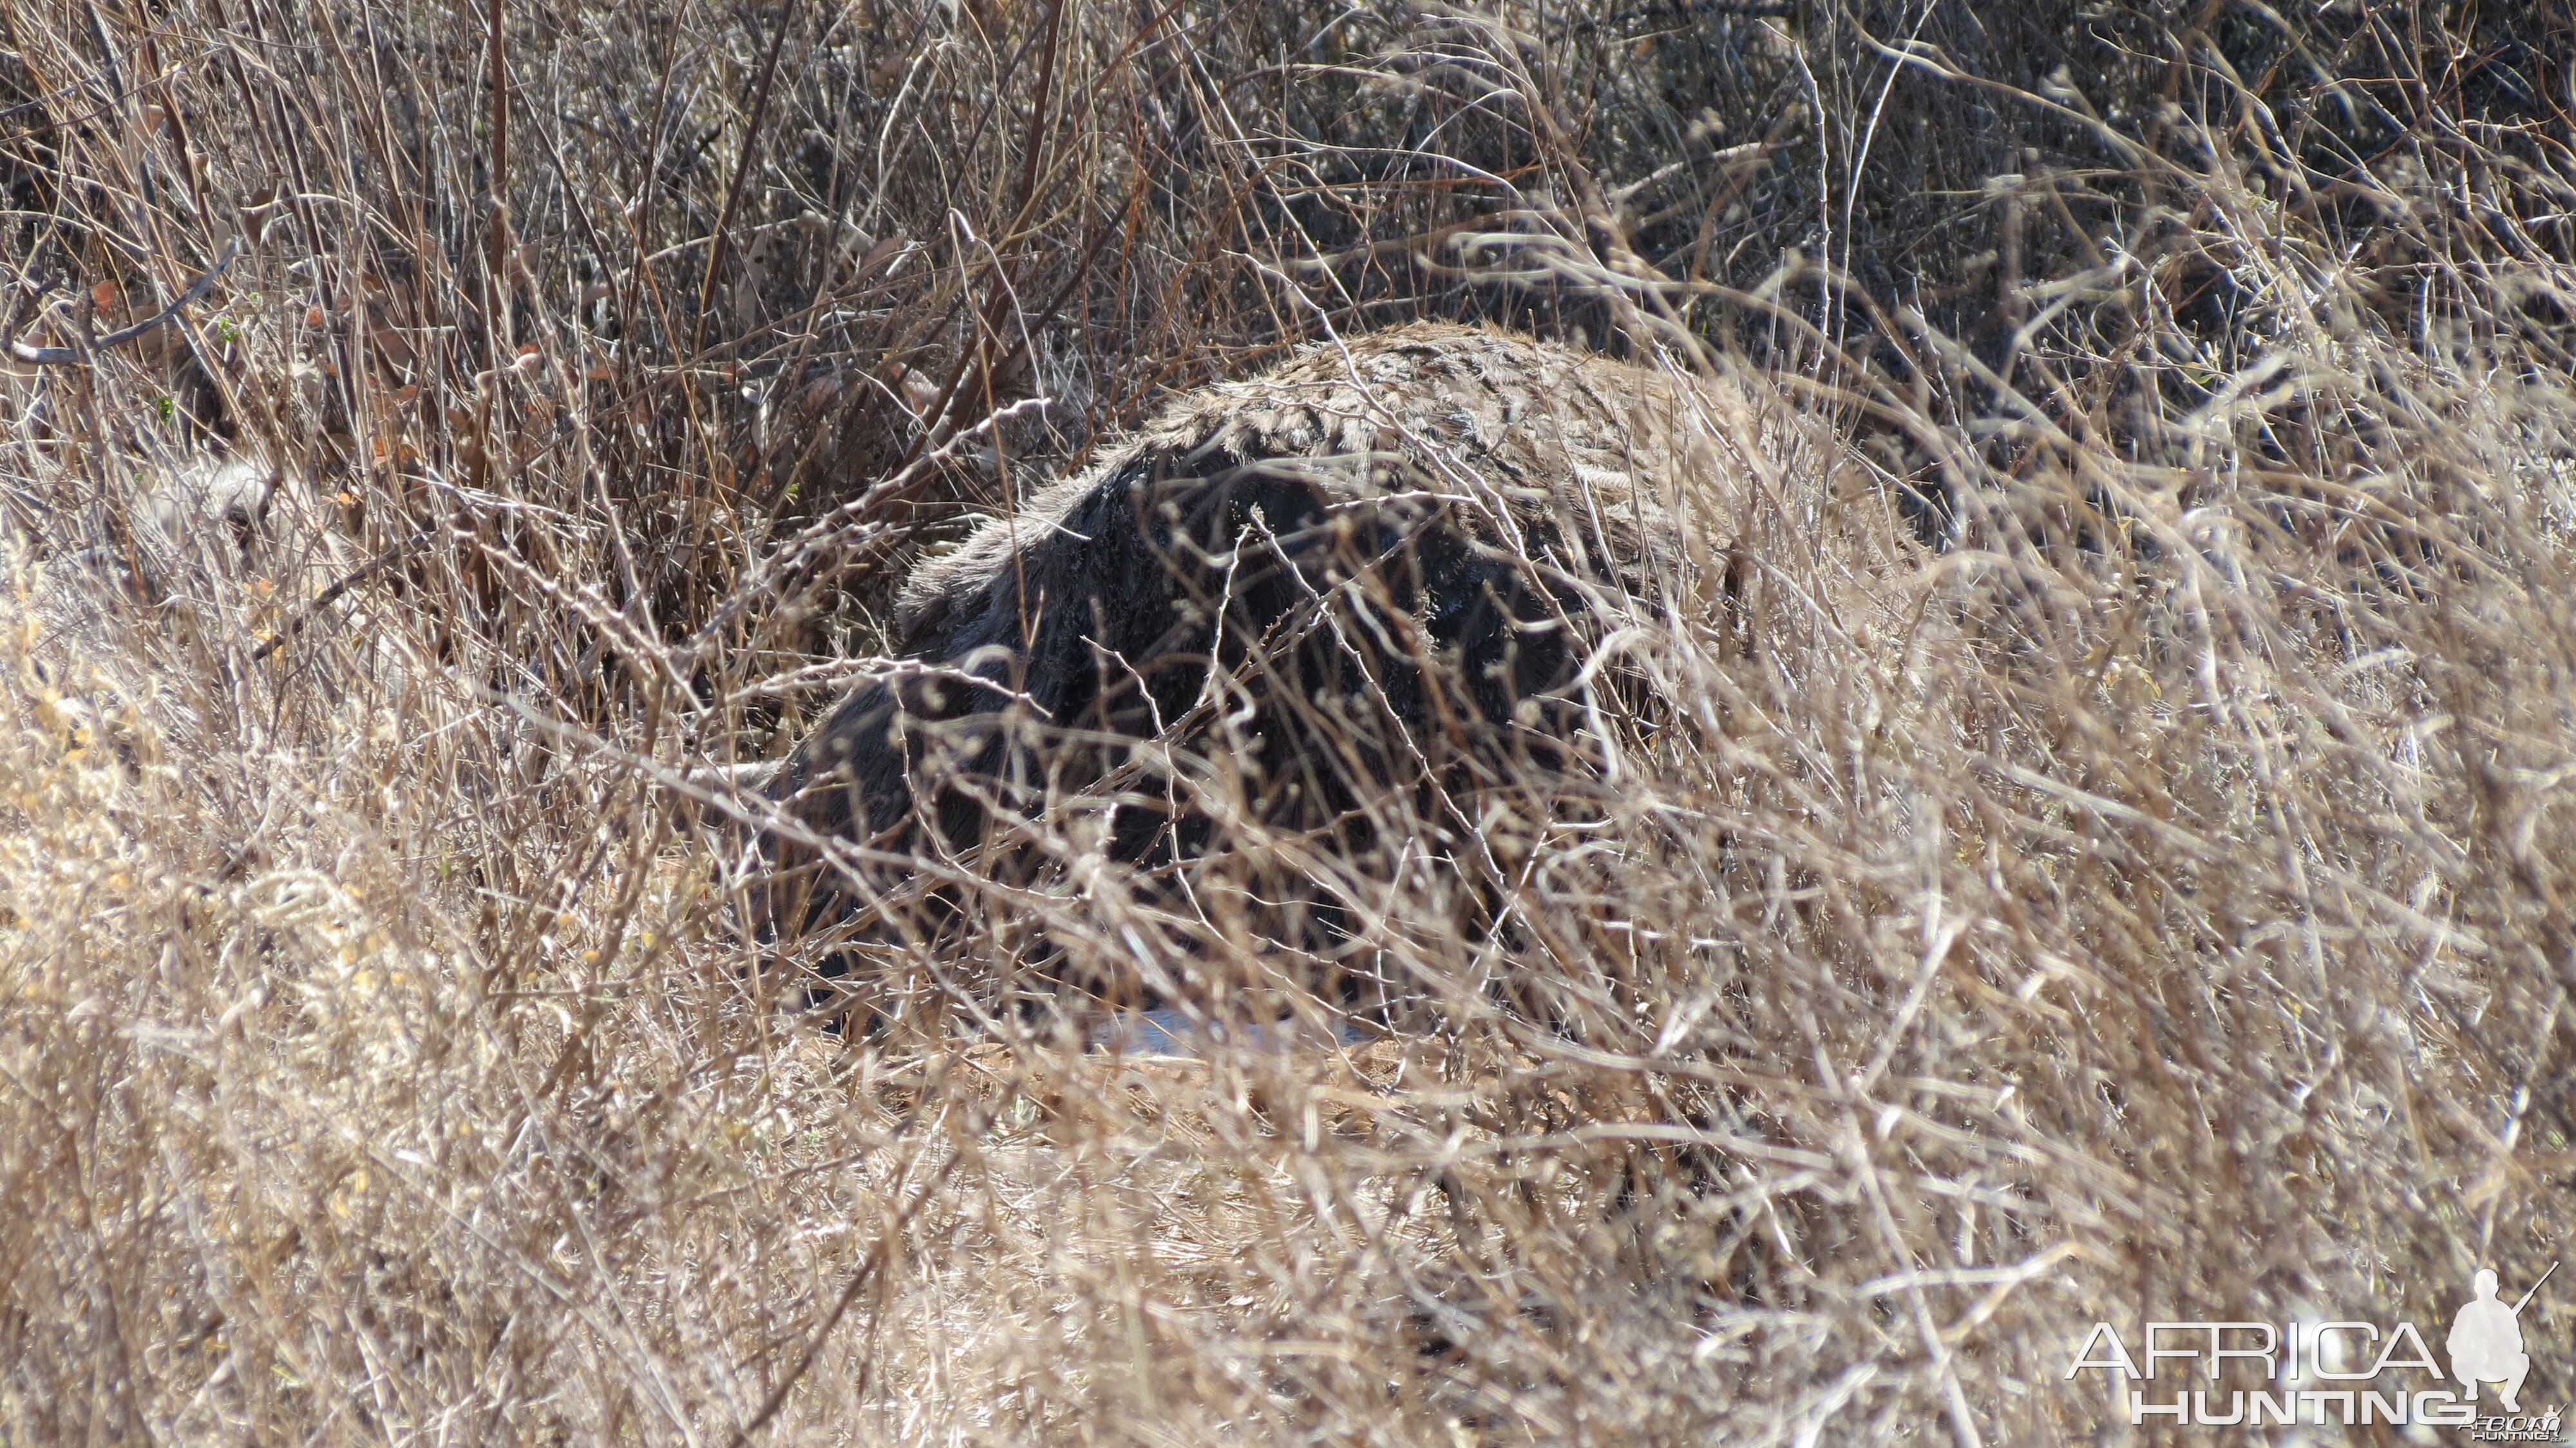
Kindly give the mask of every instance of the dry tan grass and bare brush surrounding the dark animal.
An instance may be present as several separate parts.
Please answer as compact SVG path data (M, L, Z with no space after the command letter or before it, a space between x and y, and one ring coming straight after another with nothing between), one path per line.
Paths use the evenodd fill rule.
M2437 1337L2576 1255L2561 8L0 46L23 340L237 250L0 381L0 1440L2117 1443L2094 1319ZM1401 1038L1082 1051L1038 933L1283 979L1072 827L804 1018L708 765L971 513L1409 317L1767 379L1852 446L1765 567L1901 500L1917 624L1625 631L1659 711L1510 928L1373 897Z

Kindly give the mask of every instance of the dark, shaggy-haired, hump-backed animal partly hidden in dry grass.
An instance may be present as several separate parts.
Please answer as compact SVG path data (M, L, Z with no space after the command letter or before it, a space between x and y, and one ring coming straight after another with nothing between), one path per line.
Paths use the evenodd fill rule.
M1352 879L1497 884L1535 840L1515 822L1605 806L1656 709L1613 634L1695 618L1749 647L1762 613L1819 608L1752 544L1801 546L1785 479L1832 451L1757 389L1492 327L1190 392L909 577L894 667L768 786L793 830L765 928L848 940L907 881L1061 868L1028 848L1051 819L1200 912L1234 861L1257 948L1347 976Z

